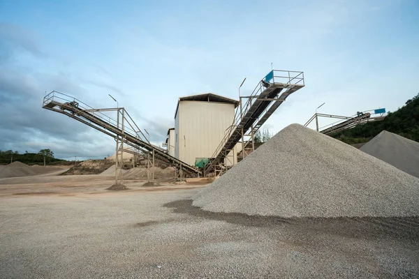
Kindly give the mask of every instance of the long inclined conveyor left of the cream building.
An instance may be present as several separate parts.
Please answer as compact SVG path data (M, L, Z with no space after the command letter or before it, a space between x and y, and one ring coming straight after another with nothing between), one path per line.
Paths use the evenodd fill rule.
M164 149L151 144L123 107L94 109L76 98L64 93L52 91L43 98L43 108L65 114L66 116L115 138L115 140L117 140L117 146L118 142L121 142L121 148L119 149L121 153L123 144L128 144L145 154L154 154L156 158L177 167L180 172L186 172L191 175L201 173L196 167L170 156ZM117 120L112 119L103 113L112 111L117 111Z

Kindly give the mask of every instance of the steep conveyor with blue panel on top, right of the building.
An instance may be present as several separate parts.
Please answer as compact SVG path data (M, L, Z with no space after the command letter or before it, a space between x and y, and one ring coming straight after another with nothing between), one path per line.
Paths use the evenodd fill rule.
M304 73L288 70L272 70L263 80L260 80L251 96L240 97L240 107L237 107L233 124L226 130L226 135L212 155L205 172L216 170L223 165L223 160L235 145L244 140L244 135L250 130L254 135L267 121L275 110L284 103L286 98L298 89L304 87ZM242 105L242 99L247 101ZM247 140L243 146L249 144Z

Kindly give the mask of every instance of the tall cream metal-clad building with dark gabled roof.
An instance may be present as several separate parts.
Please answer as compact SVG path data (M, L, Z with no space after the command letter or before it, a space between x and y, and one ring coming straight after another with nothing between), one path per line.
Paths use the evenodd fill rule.
M195 165L199 158L212 158L226 129L233 125L237 105L237 100L212 93L179 98L175 112L175 158L189 165ZM227 165L233 165L233 160L237 162L237 156L228 158Z

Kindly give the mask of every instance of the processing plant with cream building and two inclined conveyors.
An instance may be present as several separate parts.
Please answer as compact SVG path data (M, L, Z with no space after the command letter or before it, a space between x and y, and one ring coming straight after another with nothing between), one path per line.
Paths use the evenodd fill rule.
M254 150L253 137L286 98L304 87L304 73L271 70L249 96L233 100L214 93L181 97L175 128L168 129L166 149L149 142L124 107L94 108L64 93L52 91L43 108L65 114L116 141L116 179L122 181L124 145L177 169L176 176L207 176L226 172L237 163L237 153ZM110 117L106 112L117 112Z

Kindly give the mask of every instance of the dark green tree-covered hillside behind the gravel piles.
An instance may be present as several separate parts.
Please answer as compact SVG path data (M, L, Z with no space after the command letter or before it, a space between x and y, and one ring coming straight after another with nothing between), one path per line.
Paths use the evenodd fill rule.
M330 136L347 144L358 144L368 142L382 130L419 142L419 93L399 110L388 112L383 121L365 123Z

